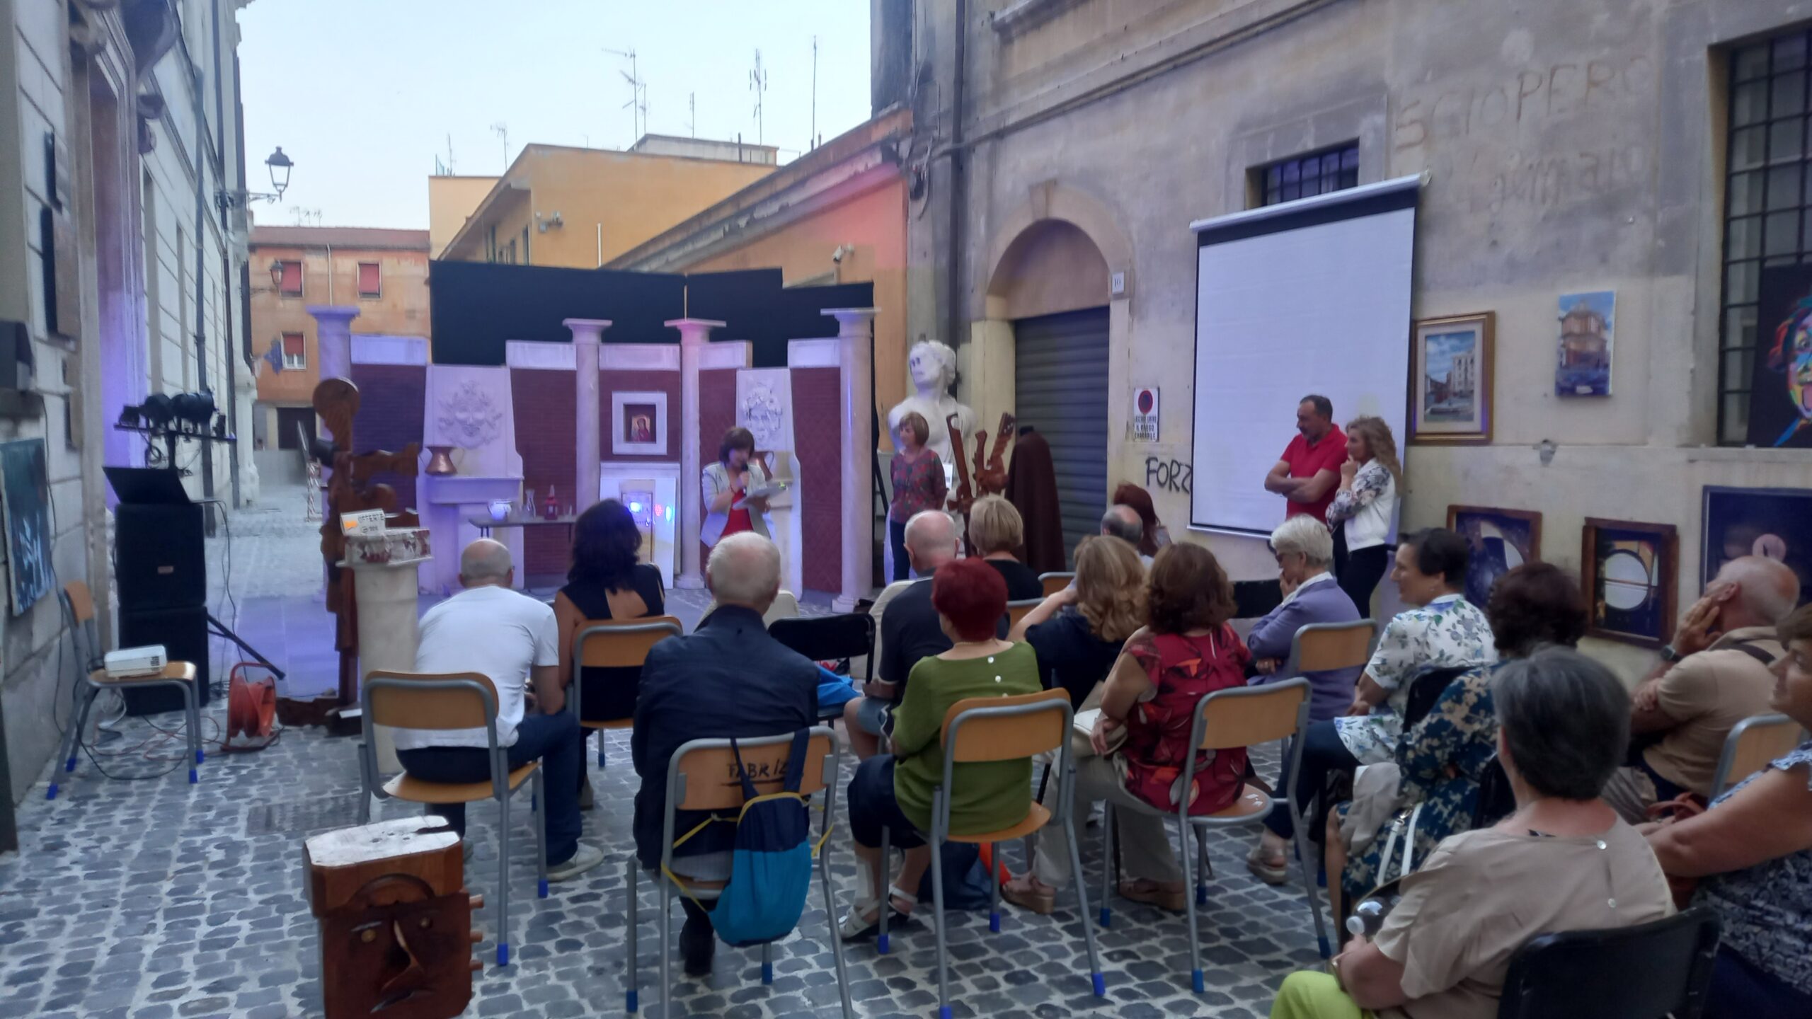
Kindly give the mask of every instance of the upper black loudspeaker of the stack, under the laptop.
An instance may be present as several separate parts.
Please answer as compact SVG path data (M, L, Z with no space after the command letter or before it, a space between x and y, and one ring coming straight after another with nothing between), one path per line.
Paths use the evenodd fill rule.
M114 578L120 584L121 615L207 604L208 560L201 531L205 511L207 506L196 502L121 502L114 510ZM134 642L121 638L120 645L132 647ZM178 655L172 651L170 656Z

